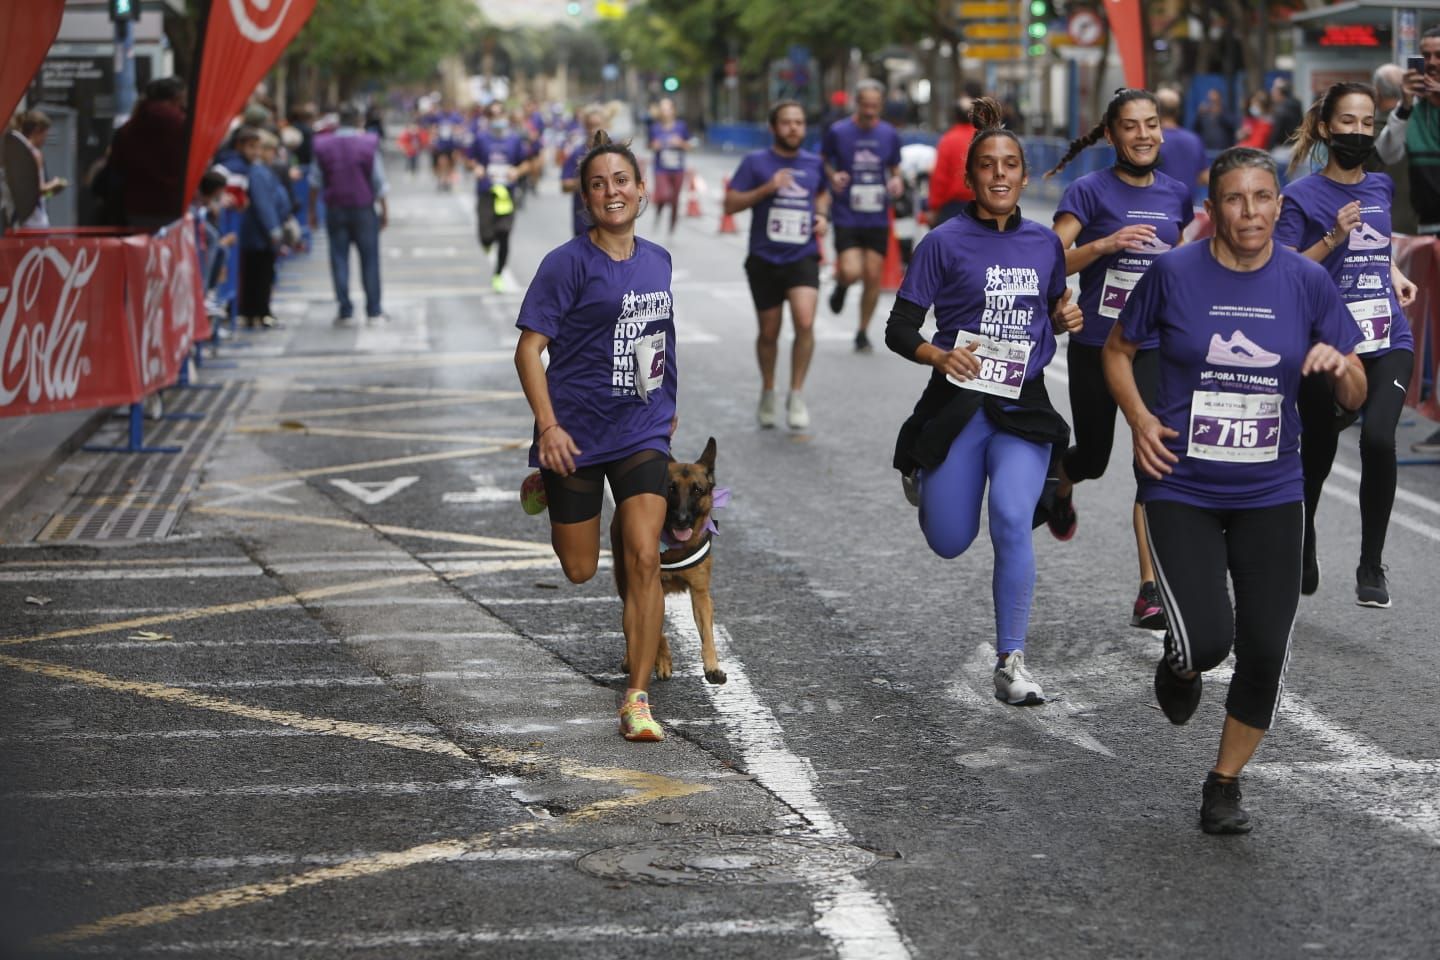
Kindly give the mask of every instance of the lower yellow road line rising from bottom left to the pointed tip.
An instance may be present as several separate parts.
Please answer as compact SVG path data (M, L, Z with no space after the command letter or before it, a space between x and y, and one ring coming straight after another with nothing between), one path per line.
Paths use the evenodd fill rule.
M441 864L458 859L467 853L495 848L504 841L517 839L530 833L577 826L580 823L598 820L616 810L645 806L648 803L655 803L657 800L691 796L713 789L707 784L684 783L668 777L655 777L649 774L641 776L642 780L632 780L632 783L636 784L644 783L638 793L598 800L554 820L527 820L500 830L475 833L468 838L422 843L405 851L357 856L353 861L336 864L334 866L321 866L318 869L305 871L302 874L291 874L289 877L281 877L272 881L242 884L239 887L200 894L199 897L192 897L177 902L157 904L154 907L145 907L127 914L114 914L88 924L71 927L69 930L63 930L60 933L40 937L29 946L36 950L53 950L79 943L82 940L94 940L95 937L118 933L121 930L154 927L157 924L173 923L187 917L199 917L219 910L232 910L235 907L259 904L298 889L318 887L321 884L359 879L361 877L376 877L379 874L387 874L390 871L405 869L420 864Z

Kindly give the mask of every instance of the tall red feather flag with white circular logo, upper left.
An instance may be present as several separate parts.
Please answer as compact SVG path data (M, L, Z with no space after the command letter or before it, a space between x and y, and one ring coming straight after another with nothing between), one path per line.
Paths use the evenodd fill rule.
M184 203L200 186L230 121L314 9L315 0L210 0L200 40L200 72L190 95L193 125Z

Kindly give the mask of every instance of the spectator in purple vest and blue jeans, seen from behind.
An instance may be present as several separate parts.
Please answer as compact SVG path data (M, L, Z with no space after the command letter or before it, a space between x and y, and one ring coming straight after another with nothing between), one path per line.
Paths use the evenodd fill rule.
M380 138L360 130L360 108L340 108L340 127L315 138L315 164L310 174L310 225L317 226L315 197L324 191L325 232L330 236L330 279L340 312L336 325L354 317L350 302L350 246L360 255L364 312L370 321L384 317L380 308L380 230L389 223L384 164ZM379 213L376 212L379 207Z

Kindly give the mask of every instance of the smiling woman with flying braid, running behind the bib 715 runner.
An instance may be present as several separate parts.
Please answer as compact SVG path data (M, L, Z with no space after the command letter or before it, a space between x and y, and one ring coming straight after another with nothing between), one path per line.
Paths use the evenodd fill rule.
M1070 144L1053 177L1090 144L1104 138L1115 147L1115 166L1086 174L1066 187L1056 210L1056 233L1066 248L1066 272L1080 273L1080 309L1084 327L1070 335L1066 363L1070 376L1070 419L1074 446L1060 462L1060 486L1050 511L1050 533L1070 540L1076 533L1076 511L1070 499L1074 485L1097 479L1110 463L1115 443L1115 400L1104 384L1100 348L1126 298L1156 256L1181 245L1181 232L1194 216L1189 190L1165 176L1159 164L1159 105L1140 89L1116 91L1104 119ZM1135 357L1135 379L1140 396L1155 396L1155 338L1140 344ZM1130 626L1165 628L1165 607L1155 587L1145 545L1145 518L1135 504L1132 522L1140 566L1140 590L1130 612Z

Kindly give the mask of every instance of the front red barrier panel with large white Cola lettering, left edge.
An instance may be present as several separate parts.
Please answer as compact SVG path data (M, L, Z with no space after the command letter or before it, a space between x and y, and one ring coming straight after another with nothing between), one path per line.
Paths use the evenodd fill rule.
M0 416L144 396L117 239L0 239Z

